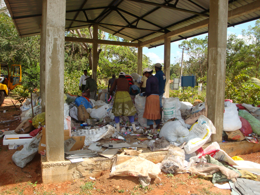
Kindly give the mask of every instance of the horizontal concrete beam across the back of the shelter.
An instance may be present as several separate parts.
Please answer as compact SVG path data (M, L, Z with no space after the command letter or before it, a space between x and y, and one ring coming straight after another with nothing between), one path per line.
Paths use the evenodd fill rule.
M97 43L97 44L104 44L104 45L139 47L139 43L109 41L109 40L101 40L101 39L95 40L95 39L92 39L92 38L65 37L65 41L78 42L78 43Z

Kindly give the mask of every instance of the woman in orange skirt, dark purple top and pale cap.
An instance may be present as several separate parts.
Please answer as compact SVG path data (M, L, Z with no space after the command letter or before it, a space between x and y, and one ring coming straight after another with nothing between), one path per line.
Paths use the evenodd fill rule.
M147 119L148 129L153 129L153 120L157 128L160 126L160 99L159 99L159 82L158 79L153 76L153 69L145 68L143 70L146 80L146 92L141 93L140 96L146 96L145 111L143 117Z

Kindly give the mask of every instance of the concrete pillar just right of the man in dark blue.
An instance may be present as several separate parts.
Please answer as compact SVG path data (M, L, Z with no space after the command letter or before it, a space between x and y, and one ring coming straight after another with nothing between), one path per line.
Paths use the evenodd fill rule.
M164 39L164 74L166 76L165 83L165 97L169 97L170 94L170 60L171 60L171 38Z

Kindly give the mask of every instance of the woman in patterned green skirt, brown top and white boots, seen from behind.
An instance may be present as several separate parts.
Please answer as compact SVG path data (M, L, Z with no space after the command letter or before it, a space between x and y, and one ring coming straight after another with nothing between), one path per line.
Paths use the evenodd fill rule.
M113 95L113 89L117 87L115 93L114 104L112 107L112 113L115 115L116 130L119 129L119 116L128 116L129 121L132 124L133 131L136 131L134 123L134 114L136 109L133 105L131 97L129 95L129 81L126 79L126 74L124 72L119 73L118 79L116 79L110 88L110 95Z

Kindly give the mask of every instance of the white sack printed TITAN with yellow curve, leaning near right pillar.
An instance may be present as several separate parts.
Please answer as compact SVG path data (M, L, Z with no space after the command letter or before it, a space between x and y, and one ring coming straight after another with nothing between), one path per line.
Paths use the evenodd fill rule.
M198 122L190 128L189 135L178 138L176 142L179 144L186 142L184 150L187 154L190 154L203 146L212 133L216 133L216 128L212 124L211 120L202 115L199 117Z

